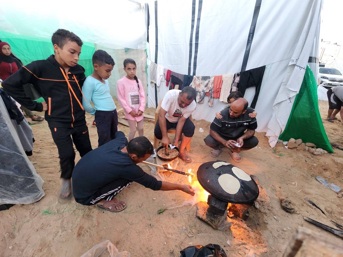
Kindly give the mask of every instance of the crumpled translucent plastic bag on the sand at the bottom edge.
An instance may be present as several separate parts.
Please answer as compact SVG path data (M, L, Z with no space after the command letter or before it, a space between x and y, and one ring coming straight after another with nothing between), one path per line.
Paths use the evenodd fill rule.
M106 254L107 252L109 253L110 257L130 257L131 256L131 254L126 251L119 253L117 247L114 244L112 244L109 240L106 240L100 244L94 245L81 257L100 257Z

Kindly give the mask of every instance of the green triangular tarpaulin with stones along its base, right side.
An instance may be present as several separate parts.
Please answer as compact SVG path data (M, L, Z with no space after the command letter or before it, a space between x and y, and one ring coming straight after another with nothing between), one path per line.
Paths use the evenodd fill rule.
M308 65L291 115L279 138L284 141L301 138L304 143L314 143L317 148L333 152L319 113L317 82Z

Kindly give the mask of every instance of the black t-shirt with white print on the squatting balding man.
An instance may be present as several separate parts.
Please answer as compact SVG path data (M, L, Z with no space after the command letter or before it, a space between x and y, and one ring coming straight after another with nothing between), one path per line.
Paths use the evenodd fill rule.
M256 118L249 117L249 113L254 112L250 107L247 111L237 118L230 118L230 108L225 108L220 113L223 116L221 119L214 118L210 129L217 132L225 140L237 139L241 137L244 132L248 130L257 129Z

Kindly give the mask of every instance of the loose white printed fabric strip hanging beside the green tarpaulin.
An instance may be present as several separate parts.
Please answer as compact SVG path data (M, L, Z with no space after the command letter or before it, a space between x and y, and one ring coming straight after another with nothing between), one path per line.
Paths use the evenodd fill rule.
M287 67L287 75L281 85L273 105L273 115L268 123L266 136L271 147L277 143L281 132L285 129L289 114L293 107L295 96L299 93L308 57L311 52L315 34L320 21L321 1L313 1L310 14L308 15L298 45L294 50L292 59Z

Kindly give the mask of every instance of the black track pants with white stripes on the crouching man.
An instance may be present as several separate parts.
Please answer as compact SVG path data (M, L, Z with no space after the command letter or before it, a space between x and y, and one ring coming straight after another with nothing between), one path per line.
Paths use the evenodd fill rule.
M94 205L99 203L101 200L113 200L113 198L122 191L125 187L130 185L132 181L127 179L116 179L113 182L103 186L99 191L88 197L87 199L75 199L76 202L82 205Z

